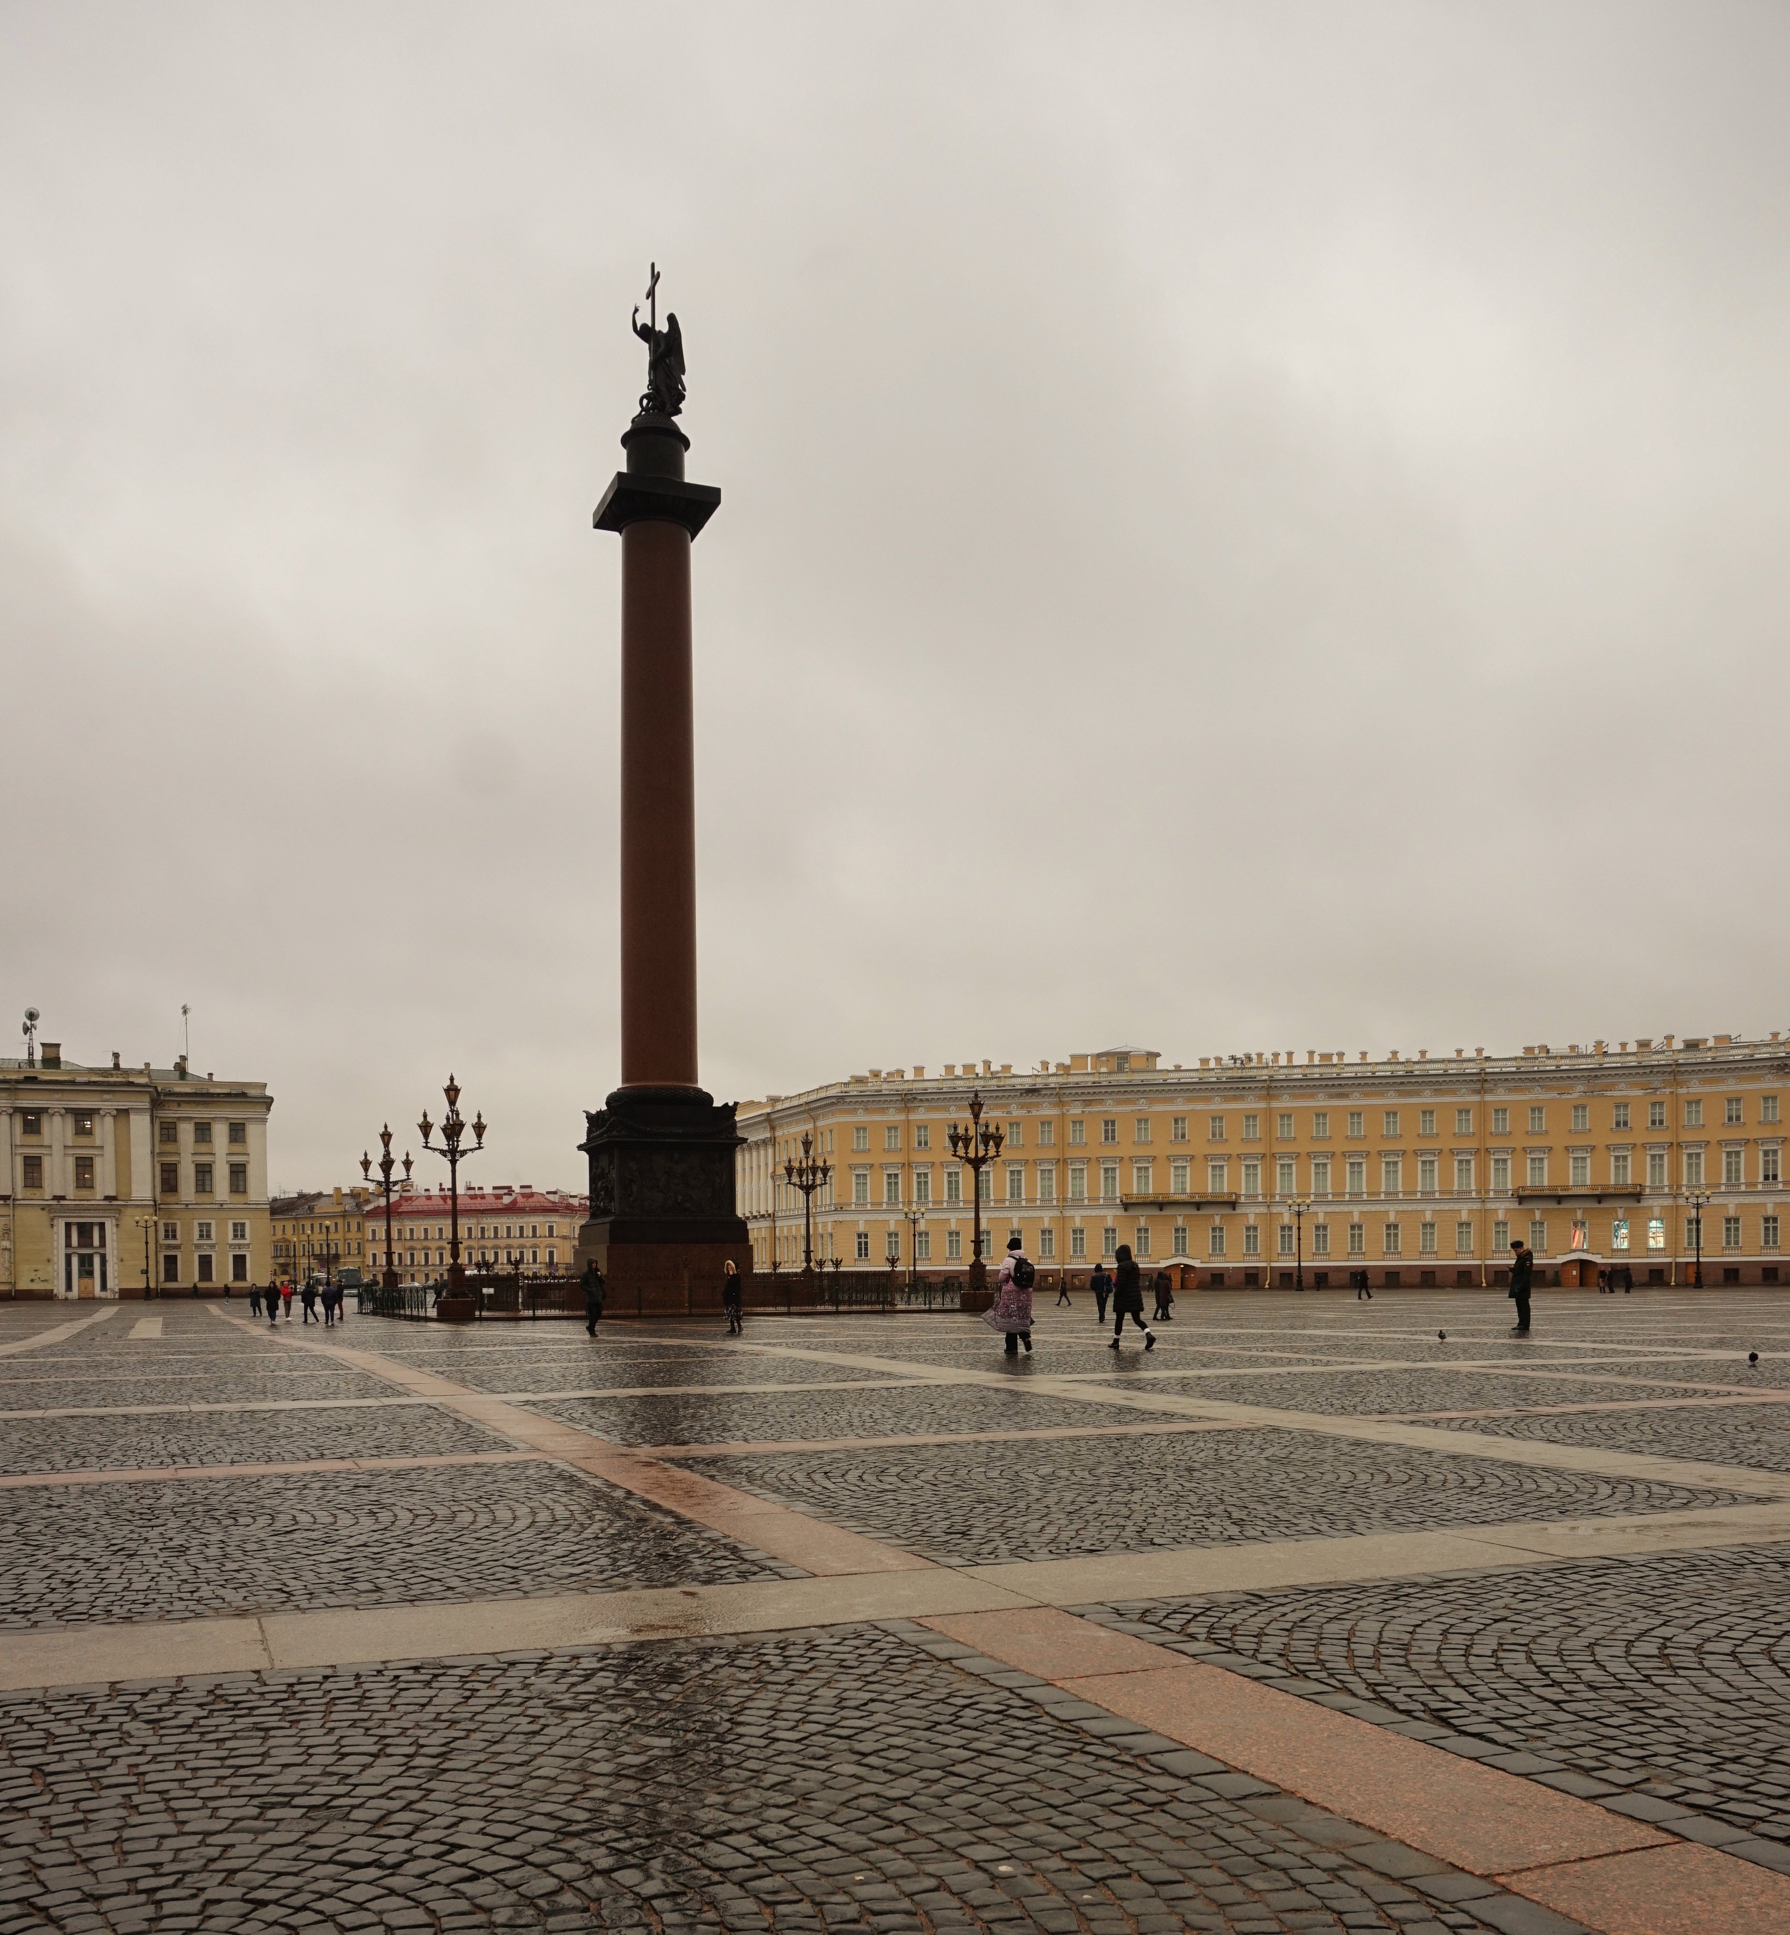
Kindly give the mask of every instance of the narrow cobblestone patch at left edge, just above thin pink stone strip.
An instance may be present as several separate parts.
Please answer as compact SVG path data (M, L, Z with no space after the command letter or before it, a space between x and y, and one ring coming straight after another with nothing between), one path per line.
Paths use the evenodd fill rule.
M0 1471L286 1465L306 1457L509 1451L509 1440L426 1405L344 1411L159 1411L0 1418Z

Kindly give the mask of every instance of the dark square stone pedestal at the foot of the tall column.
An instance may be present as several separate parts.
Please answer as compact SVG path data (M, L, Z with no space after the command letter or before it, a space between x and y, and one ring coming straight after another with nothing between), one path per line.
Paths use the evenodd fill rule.
M722 1265L753 1269L733 1209L733 1103L697 1087L615 1089L586 1111L590 1221L579 1260L604 1273L610 1316L720 1314Z

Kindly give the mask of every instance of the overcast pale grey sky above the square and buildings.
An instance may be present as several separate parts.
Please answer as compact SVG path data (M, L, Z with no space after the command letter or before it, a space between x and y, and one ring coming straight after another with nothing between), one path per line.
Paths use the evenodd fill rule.
M1494 1051L1782 998L1775 6L0 6L4 1026L617 1074L685 329L702 1074ZM433 1113L439 1113L435 1109Z

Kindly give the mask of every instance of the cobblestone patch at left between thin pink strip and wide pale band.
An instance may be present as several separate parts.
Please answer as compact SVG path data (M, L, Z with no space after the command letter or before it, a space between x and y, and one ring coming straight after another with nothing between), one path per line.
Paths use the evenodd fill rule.
M0 1629L790 1577L553 1465L8 1492Z

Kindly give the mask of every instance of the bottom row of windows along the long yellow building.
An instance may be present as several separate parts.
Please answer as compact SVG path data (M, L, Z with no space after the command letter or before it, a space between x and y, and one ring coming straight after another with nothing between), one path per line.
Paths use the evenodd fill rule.
M1271 1235L1273 1235L1273 1254L1275 1256L1285 1256L1285 1258L1295 1258L1300 1252L1302 1254L1310 1254L1314 1258L1331 1256L1331 1254L1335 1254L1331 1250L1331 1231L1335 1227L1341 1227L1341 1231L1343 1231L1343 1252L1341 1254L1345 1254L1345 1256L1366 1256L1368 1254L1368 1225L1366 1223L1343 1223L1343 1225L1314 1223L1310 1229L1304 1229L1304 1231L1300 1231L1293 1223L1277 1223L1277 1225L1273 1225L1273 1231L1271 1231ZM1475 1254L1475 1227L1473 1227L1473 1223L1467 1221L1467 1219L1461 1219L1461 1221L1453 1223L1451 1229L1453 1229L1453 1254L1455 1256L1473 1256ZM1765 1217L1761 1217L1759 1219L1759 1248L1761 1250L1776 1250L1778 1248L1778 1231L1780 1231L1780 1223L1778 1223L1776 1215L1765 1215ZM1014 1231L1014 1235L1020 1235L1020 1233ZM1169 1254L1171 1256L1190 1256L1192 1254L1192 1248L1190 1248L1192 1235L1194 1233L1188 1231L1186 1227L1169 1231ZM1229 1254L1231 1235L1233 1233L1227 1231L1225 1225L1213 1223L1206 1231L1206 1256L1213 1256L1213 1258L1227 1256ZM1527 1223L1529 1248L1535 1250L1538 1256L1552 1254L1550 1235L1552 1235L1552 1229L1550 1229L1550 1223L1548 1223L1546 1217L1531 1217L1529 1219L1529 1223ZM1722 1250L1740 1250L1742 1248L1742 1219L1738 1215L1724 1215L1724 1217L1720 1217L1720 1231L1716 1231L1716 1219L1711 1217L1707 1221L1707 1227L1701 1229L1701 1233L1699 1233L1699 1219L1697 1217L1686 1217L1684 1219L1684 1250L1686 1252L1695 1252L1703 1244L1707 1244L1707 1246L1713 1248L1716 1235L1720 1236L1720 1248ZM956 1260L960 1260L964 1256L964 1236L966 1236L966 1233L958 1231L958 1229L948 1229L944 1233L944 1260L946 1262L956 1262ZM1417 1254L1418 1256L1436 1256L1436 1254L1440 1254L1440 1250L1442 1250L1442 1236L1444 1236L1444 1225L1434 1223L1434 1221L1420 1223L1417 1227ZM1099 1233L1099 1238L1101 1238L1101 1256L1111 1258L1117 1252L1117 1248L1119 1248L1119 1229L1117 1229L1117 1225L1111 1225L1111 1223L1105 1225L1101 1229L1101 1233ZM1571 1238L1573 1238L1571 1240L1573 1248L1587 1248L1587 1242L1585 1242L1585 1225L1583 1223L1577 1223L1573 1227ZM1612 1219L1612 1225L1610 1225L1610 1250L1614 1254L1627 1254L1629 1248L1631 1248L1631 1238L1633 1238L1633 1248L1641 1248L1645 1244L1645 1248L1649 1252L1664 1252L1664 1248L1666 1248L1666 1219L1664 1217L1647 1217L1645 1223L1639 1225L1633 1231L1629 1227L1629 1219L1627 1217L1616 1217L1616 1219ZM1148 1223L1140 1223L1136 1227L1136 1231L1132 1231L1132 1235L1130 1235L1128 1240L1130 1240L1134 1256L1138 1256L1140 1260L1149 1256L1151 1231L1149 1231ZM888 1229L888 1231L884 1231L882 1242L884 1242L884 1256L890 1262L900 1260L900 1254L902 1254L902 1233L900 1233L900 1229ZM1509 1242L1511 1242L1511 1225L1509 1225L1507 1219L1498 1217L1492 1223L1492 1244L1490 1244L1492 1254L1494 1256L1504 1254L1506 1250L1509 1250ZM995 1233L985 1229L981 1233L981 1244L983 1244L981 1254L985 1258L993 1256L995 1254L993 1252ZM927 1264L927 1262L933 1260L933 1233L931 1231L927 1231L927 1229L913 1231L913 1235L911 1235L911 1246L913 1246L913 1262ZM830 1248L832 1248L832 1233L830 1231L822 1233L822 1244L820 1244L820 1248L822 1248L824 1254L830 1254ZM869 1262L869 1256L871 1256L871 1233L867 1229L853 1231L853 1250L855 1250L855 1260L857 1262ZM780 1258L790 1258L791 1262L797 1258L799 1246L797 1246L797 1233L795 1231L784 1231L784 1233L780 1233L780 1236L778 1236L778 1252L780 1252ZM1068 1233L1068 1254L1070 1254L1070 1258L1086 1258L1088 1256L1088 1231L1086 1229L1072 1229ZM1242 1248L1240 1248L1238 1254L1240 1256L1262 1256L1264 1254L1264 1250L1262 1250L1262 1225L1260 1223L1248 1223L1248 1225L1244 1225L1244 1229L1242 1229ZM1380 1256L1403 1256L1405 1254L1405 1225L1401 1225L1401 1223L1384 1223L1384 1225L1380 1225L1380 1231L1378 1231L1378 1252L1376 1254L1380 1254ZM1037 1233L1037 1256L1039 1256L1041 1262L1051 1262L1057 1256L1057 1231L1053 1231L1053 1229L1041 1229ZM428 1260L428 1258L424 1258L424 1260ZM410 1262L414 1264L416 1258L412 1256Z

